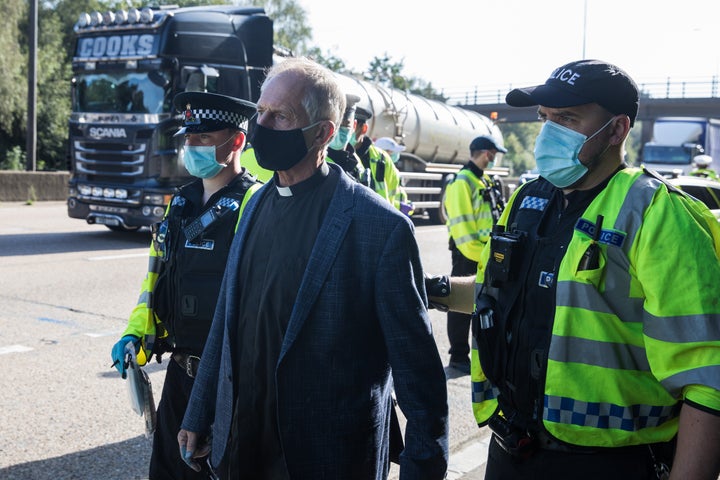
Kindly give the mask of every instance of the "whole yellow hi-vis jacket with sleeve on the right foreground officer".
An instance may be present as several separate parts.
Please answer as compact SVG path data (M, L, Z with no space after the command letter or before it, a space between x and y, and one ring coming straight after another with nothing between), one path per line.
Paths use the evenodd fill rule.
M515 192L500 219L507 225ZM578 271L604 216L600 266ZM484 278L489 245L478 268ZM581 446L667 441L679 402L720 411L720 224L701 202L624 169L576 223L557 275L542 425ZM498 390L472 353L473 411Z

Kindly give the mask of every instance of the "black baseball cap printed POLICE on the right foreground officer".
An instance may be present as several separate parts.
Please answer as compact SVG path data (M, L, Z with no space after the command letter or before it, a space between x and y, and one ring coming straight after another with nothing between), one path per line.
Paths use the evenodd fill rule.
M619 67L600 60L579 60L555 69L543 85L510 91L505 101L512 107L551 108L597 103L615 115L627 115L632 126L639 94L633 79Z

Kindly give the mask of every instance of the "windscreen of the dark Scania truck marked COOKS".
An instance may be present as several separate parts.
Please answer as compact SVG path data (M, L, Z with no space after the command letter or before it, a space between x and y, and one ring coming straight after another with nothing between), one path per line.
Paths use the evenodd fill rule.
M168 90L158 85L158 73L103 72L82 73L76 77L74 112L81 113L163 113L170 101ZM165 82L168 83L168 82Z

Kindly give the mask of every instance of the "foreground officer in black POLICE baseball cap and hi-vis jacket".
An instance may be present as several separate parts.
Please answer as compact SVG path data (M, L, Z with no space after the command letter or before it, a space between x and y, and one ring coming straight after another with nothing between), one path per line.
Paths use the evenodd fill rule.
M507 95L538 105L540 177L508 201L477 296L453 278L445 299L475 298L486 479L720 473L720 224L624 164L638 99L627 73L597 60Z

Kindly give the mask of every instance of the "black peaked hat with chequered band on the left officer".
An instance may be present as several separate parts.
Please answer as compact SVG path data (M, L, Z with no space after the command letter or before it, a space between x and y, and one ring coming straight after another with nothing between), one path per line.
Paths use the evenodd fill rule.
M254 103L227 95L205 92L182 92L173 100L183 113L183 126L175 135L205 133L237 128L247 131L248 120L255 115Z

